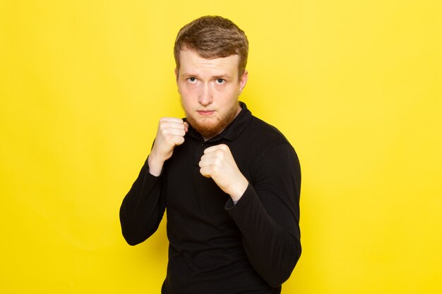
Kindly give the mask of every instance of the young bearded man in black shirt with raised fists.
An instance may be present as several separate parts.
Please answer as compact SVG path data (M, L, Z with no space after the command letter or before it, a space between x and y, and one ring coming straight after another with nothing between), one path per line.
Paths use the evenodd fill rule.
M238 101L249 43L206 16L178 33L177 86L186 118L161 118L153 148L120 209L130 245L167 208L162 293L280 293L301 255L299 161L285 137Z

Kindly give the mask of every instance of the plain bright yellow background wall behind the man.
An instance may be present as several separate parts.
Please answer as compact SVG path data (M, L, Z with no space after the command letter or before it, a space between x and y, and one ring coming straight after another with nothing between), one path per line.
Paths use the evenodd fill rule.
M206 14L245 30L241 100L301 160L283 293L442 293L441 1L0 3L0 293L160 293L165 223L130 247L119 205Z

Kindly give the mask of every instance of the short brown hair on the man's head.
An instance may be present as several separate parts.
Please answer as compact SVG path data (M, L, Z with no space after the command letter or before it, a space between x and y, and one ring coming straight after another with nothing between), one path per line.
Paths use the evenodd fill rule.
M221 16L203 16L184 25L175 40L174 56L179 70L179 51L195 50L204 59L239 55L239 77L244 73L249 41L237 25Z

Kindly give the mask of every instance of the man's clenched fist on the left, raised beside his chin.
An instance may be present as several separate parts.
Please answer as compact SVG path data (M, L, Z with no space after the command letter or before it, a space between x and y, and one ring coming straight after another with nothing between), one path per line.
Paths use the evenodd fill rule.
M148 159L149 172L153 176L160 176L162 166L167 159L172 157L174 148L184 143L187 130L189 130L189 125L181 118L160 119L157 136Z

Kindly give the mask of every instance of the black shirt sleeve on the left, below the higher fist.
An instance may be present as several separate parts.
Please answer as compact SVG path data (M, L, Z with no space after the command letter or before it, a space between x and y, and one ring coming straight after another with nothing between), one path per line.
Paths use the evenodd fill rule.
M138 178L120 207L121 231L129 245L137 245L157 231L165 212L161 193L161 176L149 173L146 159Z

